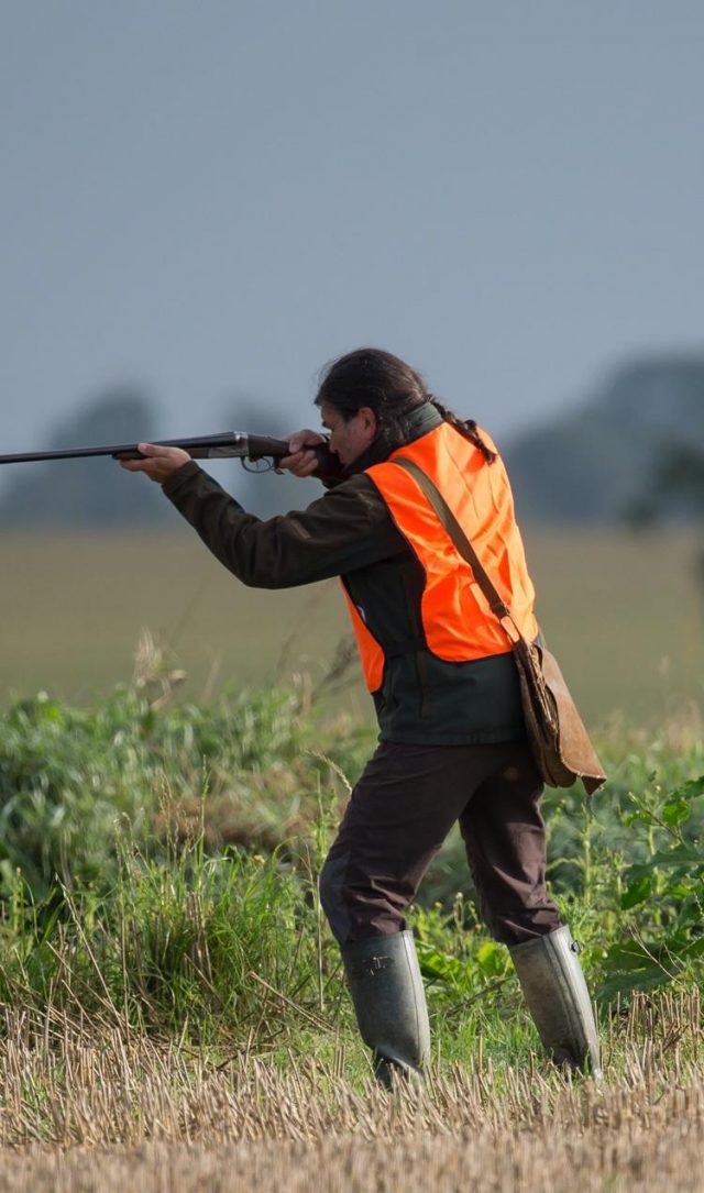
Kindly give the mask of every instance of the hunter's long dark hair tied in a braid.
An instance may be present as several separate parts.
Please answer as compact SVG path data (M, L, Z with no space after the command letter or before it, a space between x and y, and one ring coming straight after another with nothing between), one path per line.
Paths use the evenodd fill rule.
M431 402L445 422L478 447L489 464L496 458L474 419L459 419L431 394L415 369L382 348L356 348L326 365L315 398L316 406L321 402L332 406L345 421L363 406L369 406L377 416L379 434L390 444L405 441L409 431L408 415L424 402Z

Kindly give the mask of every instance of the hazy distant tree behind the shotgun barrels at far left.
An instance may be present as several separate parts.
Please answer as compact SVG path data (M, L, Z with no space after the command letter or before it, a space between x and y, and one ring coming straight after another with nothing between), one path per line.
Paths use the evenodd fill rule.
M135 388L124 387L109 390L60 422L41 446L91 447L152 437L150 403ZM128 475L110 457L7 468L17 472L0 499L5 528L142 526L169 517L158 487Z

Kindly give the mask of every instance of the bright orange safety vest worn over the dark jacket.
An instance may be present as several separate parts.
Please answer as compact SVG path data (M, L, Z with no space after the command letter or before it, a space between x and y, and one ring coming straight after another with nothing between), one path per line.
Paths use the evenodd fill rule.
M486 432L480 432L495 450ZM425 570L421 620L427 649L447 662L469 662L502 655L511 643L483 596L470 565L458 554L414 477L393 460L414 460L437 484L473 544L501 599L529 641L538 625L535 589L527 573L520 532L513 512L508 476L498 456L488 464L478 447L450 424L396 449L366 475L379 490L391 518ZM365 625L342 586L357 636L366 686L383 684L383 647Z

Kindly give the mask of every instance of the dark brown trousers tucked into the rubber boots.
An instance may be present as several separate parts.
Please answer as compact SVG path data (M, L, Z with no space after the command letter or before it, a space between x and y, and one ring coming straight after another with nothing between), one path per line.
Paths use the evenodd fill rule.
M542 796L525 742L382 742L320 876L321 903L339 944L403 931L403 913L456 821L493 937L518 945L554 932L561 921L545 890Z

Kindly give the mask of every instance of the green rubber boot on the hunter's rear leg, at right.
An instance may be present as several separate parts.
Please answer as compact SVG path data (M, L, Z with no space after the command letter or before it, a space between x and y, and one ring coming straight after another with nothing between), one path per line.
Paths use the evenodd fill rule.
M514 945L511 957L538 1034L556 1064L601 1076L599 1036L568 927Z

